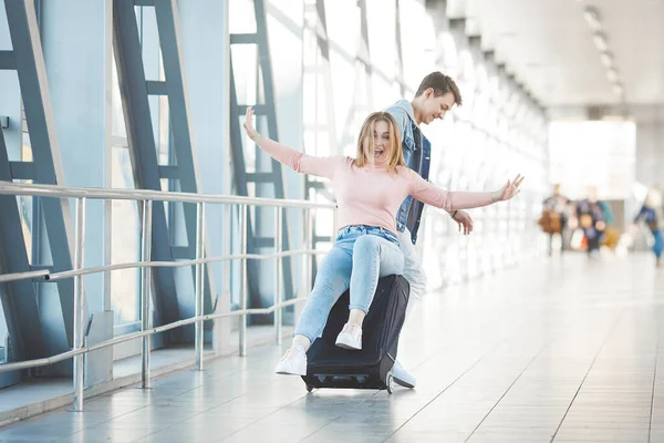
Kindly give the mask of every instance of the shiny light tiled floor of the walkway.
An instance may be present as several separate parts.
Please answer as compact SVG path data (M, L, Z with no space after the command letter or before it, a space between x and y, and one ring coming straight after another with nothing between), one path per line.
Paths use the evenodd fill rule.
M415 390L308 394L268 346L0 441L664 442L663 302L647 255L554 257L427 296L400 349Z

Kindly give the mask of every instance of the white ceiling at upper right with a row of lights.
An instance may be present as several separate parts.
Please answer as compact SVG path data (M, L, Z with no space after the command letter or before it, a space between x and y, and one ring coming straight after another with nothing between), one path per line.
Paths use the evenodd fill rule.
M546 106L620 102L583 18L596 8L630 104L664 104L664 0L449 0Z

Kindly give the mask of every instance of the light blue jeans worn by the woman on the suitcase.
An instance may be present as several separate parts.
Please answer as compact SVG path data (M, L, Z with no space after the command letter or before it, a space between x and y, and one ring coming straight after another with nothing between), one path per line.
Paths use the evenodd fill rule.
M404 255L395 234L373 226L341 228L319 267L294 334L304 336L313 343L323 332L332 306L349 288L349 309L369 311L378 278L403 271Z

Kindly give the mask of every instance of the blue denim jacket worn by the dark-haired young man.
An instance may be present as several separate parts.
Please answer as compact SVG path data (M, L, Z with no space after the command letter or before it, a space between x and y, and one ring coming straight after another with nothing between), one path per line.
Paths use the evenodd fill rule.
M402 134L402 147L404 151L404 161L406 165L415 171L425 181L428 181L429 167L432 164L432 144L418 131L422 136L422 155L417 155L417 144L415 143L415 117L413 115L413 105L407 100L400 100L386 110L398 125ZM398 208L396 214L396 228L403 233L407 227L411 231L413 244L417 241L417 230L422 220L424 203L408 196Z

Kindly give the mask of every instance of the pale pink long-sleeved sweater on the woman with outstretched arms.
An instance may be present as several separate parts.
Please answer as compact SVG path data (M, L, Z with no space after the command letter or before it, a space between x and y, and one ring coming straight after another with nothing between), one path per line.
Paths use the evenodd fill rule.
M260 148L293 171L332 181L339 205L339 227L378 226L396 234L396 212L412 195L419 202L446 210L490 205L491 193L449 192L423 179L407 166L397 173L384 167L357 167L350 157L313 157L270 138Z

